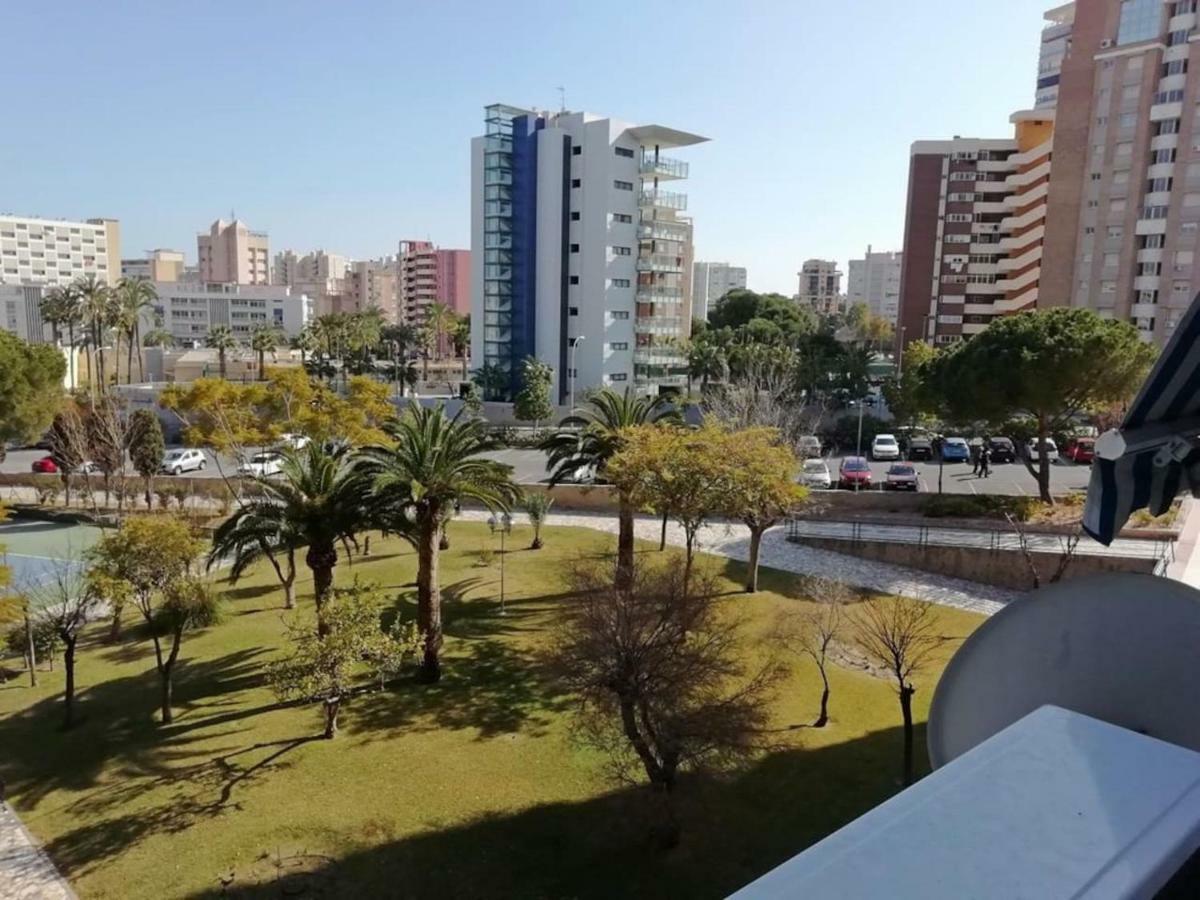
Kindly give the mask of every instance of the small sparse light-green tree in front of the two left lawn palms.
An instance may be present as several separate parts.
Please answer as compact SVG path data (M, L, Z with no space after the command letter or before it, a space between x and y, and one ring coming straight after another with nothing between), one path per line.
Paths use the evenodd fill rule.
M379 605L370 588L355 583L334 592L325 610L328 634L292 629L293 652L268 670L280 700L319 700L324 707L323 736L337 736L338 713L365 667L380 682L400 671L416 647L412 624L398 619L390 631L379 624Z

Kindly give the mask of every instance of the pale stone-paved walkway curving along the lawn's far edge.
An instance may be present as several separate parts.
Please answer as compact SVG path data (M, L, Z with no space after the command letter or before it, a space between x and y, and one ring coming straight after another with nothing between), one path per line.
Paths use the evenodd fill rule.
M487 515L482 510L463 510L461 517L467 521L481 521L486 520ZM526 517L518 515L517 518L524 520ZM613 515L552 512L546 523L594 528L610 534L617 533L617 517ZM634 530L638 538L656 542L661 527L661 520L640 516ZM706 553L745 562L750 551L750 529L740 523L719 522L703 527L697 535L697 542L698 550ZM667 524L667 544L677 547L684 546L683 528L674 522ZM792 544L787 540L787 529L784 526L772 528L763 535L758 562L769 569L798 575L823 575L856 587L870 588L887 594L914 596L984 616L991 616L1020 593Z

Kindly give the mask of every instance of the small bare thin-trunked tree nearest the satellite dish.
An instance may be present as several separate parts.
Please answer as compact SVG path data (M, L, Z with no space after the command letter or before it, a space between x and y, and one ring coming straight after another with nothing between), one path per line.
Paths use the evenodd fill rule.
M932 604L907 596L875 596L856 606L850 614L854 642L868 660L895 680L904 720L904 784L911 785L913 763L912 695L913 676L932 659L946 642L937 632Z

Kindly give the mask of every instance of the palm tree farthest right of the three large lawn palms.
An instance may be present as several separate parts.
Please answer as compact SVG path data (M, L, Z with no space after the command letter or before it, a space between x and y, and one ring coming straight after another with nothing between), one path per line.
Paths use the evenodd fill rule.
M552 485L583 469L601 478L605 466L622 448L625 428L682 421L679 410L666 397L637 397L629 388L623 394L605 388L588 401L588 407L563 419L558 431L541 442ZM626 588L634 578L634 504L625 492L617 499L617 587Z

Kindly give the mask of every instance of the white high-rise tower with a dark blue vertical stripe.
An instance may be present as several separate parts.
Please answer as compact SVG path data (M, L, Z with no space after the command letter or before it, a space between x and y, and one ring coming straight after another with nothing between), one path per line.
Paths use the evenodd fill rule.
M666 182L688 163L662 151L703 140L487 107L472 142L472 359L511 373L510 395L530 355L553 370L559 403L572 388L684 384L692 230L686 196Z

